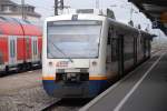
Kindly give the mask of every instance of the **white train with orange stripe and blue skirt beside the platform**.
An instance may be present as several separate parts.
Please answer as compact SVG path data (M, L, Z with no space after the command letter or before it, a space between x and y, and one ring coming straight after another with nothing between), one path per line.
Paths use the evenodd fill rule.
M77 12L45 21L42 83L51 97L94 98L151 56L153 34L112 11Z

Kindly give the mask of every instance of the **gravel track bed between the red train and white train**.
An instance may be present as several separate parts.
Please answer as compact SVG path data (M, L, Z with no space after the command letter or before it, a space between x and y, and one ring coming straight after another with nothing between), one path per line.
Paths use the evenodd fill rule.
M0 78L0 111L78 111L88 103L47 95L40 77L41 70L32 70Z

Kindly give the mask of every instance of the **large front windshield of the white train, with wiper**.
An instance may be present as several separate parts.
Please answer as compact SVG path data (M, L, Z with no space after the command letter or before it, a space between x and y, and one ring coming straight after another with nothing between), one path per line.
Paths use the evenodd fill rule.
M48 58L98 58L101 21L48 22Z

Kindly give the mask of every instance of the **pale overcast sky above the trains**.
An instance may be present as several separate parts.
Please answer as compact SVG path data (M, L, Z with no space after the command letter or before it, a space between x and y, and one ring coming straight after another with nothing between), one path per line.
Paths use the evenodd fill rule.
M20 3L21 0L12 0ZM53 1L55 0L24 0L26 3L36 7L36 11L45 18L53 16ZM96 8L96 0L63 0L65 6L70 6L71 9L87 9ZM118 21L127 23L130 20L131 3L127 0L99 0L99 8L110 8L116 14ZM132 6L132 21L135 26L141 24L143 29L149 27L151 32L158 32L158 30L151 30L150 21L139 10ZM159 34L159 33L158 33ZM163 33L161 33L163 34ZM163 34L164 36L164 34Z

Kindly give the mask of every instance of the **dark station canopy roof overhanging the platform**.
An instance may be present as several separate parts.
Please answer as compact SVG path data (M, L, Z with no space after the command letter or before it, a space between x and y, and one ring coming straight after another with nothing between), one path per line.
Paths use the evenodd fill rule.
M128 0L167 34L167 0Z

